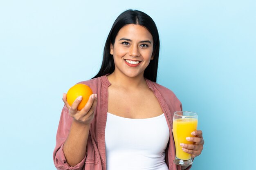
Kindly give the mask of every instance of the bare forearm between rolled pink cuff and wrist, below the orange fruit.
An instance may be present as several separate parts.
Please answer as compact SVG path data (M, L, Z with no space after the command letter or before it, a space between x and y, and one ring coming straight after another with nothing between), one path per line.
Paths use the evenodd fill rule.
M75 166L85 157L89 130L90 124L72 121L69 135L63 145L63 152L70 166Z

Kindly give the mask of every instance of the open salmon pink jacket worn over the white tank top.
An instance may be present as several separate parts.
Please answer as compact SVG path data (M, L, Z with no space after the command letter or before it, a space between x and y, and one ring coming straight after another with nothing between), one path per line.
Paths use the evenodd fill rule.
M94 110L94 118L90 124L86 154L83 160L76 166L70 166L65 159L63 144L67 139L73 118L70 117L67 107L64 106L56 135L56 147L54 148L53 153L54 165L58 170L106 170L105 128L108 112L108 86L111 84L106 75L79 83L90 86L93 93L98 95L97 107ZM173 140L172 126L173 113L182 110L182 105L175 94L168 88L148 79L146 79L146 83L148 88L150 88L157 97L170 131L170 139L165 150L166 164L169 170L181 170L180 166L173 163L175 158L175 144ZM190 168L191 166L189 166L187 170Z

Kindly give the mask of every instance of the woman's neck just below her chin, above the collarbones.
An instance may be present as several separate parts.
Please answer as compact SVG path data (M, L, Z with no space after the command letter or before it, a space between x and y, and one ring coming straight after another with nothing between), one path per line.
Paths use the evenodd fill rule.
M115 73L114 71L112 74L108 75L108 80L112 85L126 89L137 89L147 86L143 73L136 77L128 77L124 74Z

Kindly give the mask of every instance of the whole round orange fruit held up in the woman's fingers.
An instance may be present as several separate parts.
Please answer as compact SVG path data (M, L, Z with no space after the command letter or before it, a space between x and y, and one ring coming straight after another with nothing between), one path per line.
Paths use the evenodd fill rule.
M82 96L83 99L77 107L77 110L81 110L88 99L92 95L92 89L85 84L76 84L67 91L67 103L71 106L77 97Z

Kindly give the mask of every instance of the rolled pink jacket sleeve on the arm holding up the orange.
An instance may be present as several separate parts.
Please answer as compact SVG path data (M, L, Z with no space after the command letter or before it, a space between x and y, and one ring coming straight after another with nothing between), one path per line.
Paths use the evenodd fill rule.
M81 162L79 162L76 166L73 167L67 163L67 160L63 152L63 144L67 139L67 135L70 131L72 119L73 118L69 116L68 109L66 108L66 106L64 106L58 124L56 146L53 152L54 165L58 170L82 170L83 166L85 165L85 158L87 154Z

